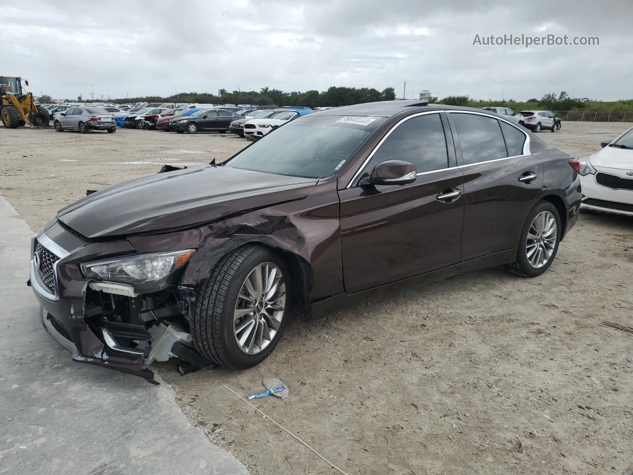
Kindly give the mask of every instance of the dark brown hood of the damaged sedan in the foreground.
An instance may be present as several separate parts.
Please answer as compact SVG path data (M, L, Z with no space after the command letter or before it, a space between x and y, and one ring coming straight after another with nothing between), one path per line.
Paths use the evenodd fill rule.
M301 200L317 181L232 167L185 168L104 188L57 217L91 239L163 232Z

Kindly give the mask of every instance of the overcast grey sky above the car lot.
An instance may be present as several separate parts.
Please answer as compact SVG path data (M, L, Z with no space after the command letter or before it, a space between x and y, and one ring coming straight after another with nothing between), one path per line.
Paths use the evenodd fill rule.
M541 8L538 8L538 6ZM395 87L406 97L632 99L633 1L1 2L1 74L53 98ZM479 46L475 35L597 36Z

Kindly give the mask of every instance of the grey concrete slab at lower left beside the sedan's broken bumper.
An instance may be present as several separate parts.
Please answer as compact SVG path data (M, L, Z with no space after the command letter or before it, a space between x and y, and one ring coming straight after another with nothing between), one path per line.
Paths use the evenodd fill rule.
M32 231L0 196L0 474L248 475L166 385L73 363L41 326Z

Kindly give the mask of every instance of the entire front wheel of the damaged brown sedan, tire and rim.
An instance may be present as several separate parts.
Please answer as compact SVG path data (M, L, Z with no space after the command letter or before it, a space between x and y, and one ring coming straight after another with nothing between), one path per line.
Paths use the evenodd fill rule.
M284 331L289 277L269 248L249 244L223 257L196 286L191 334L198 352L232 369L260 364Z

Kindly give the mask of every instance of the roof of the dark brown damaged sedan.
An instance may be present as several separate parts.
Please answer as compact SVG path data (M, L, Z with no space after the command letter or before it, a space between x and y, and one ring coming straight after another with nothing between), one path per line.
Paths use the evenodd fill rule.
M329 109L324 111L313 112L310 115L359 115L359 116L373 116L373 117L394 117L399 113L405 111L422 112L422 111L434 111L434 110L464 110L478 113L486 113L487 111L474 108L474 107L462 107L462 106L447 106L444 104L429 104L424 101L379 101L368 102L365 104L356 104L353 106L342 106L335 109ZM496 116L495 116L496 117Z

